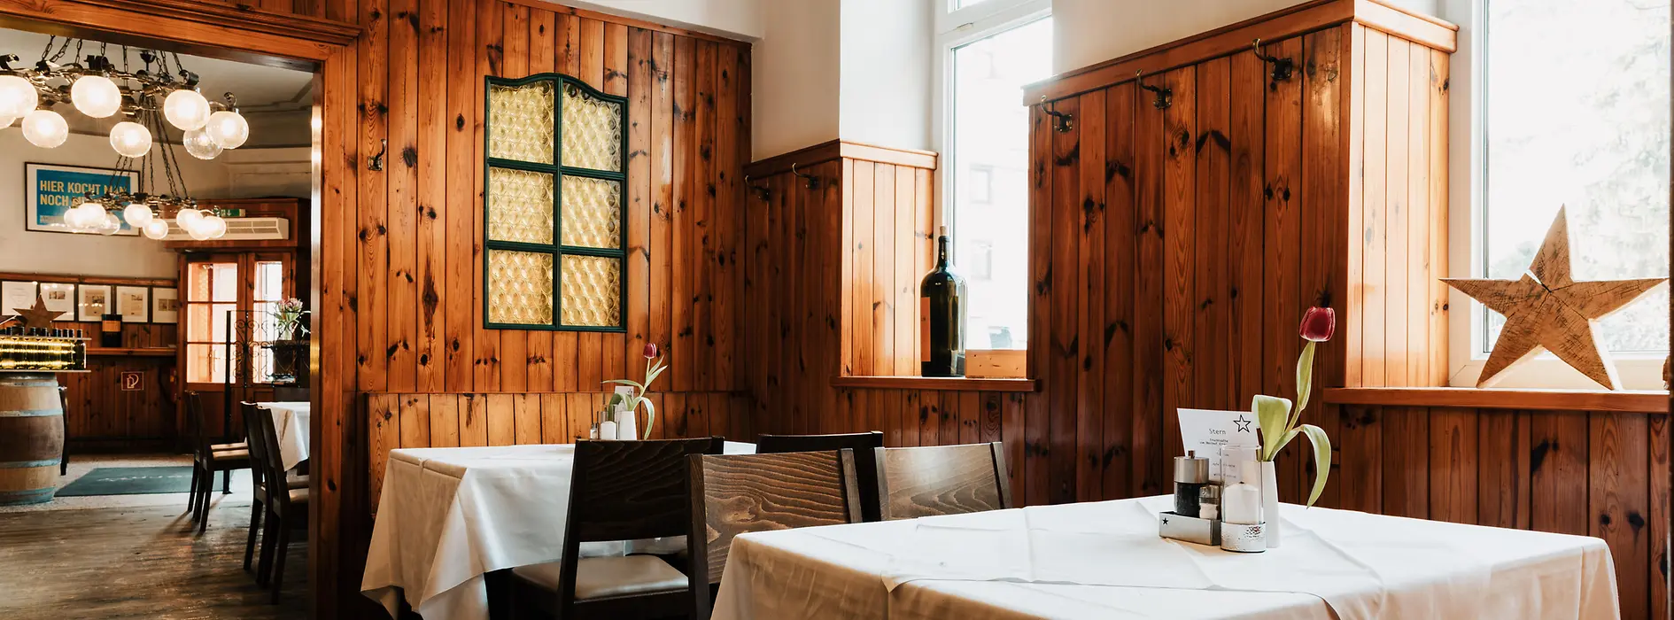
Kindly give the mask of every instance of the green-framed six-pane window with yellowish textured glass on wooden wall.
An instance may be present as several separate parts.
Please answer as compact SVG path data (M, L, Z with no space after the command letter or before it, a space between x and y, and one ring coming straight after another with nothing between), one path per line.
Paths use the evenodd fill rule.
M542 90L542 84L549 84L549 90ZM549 104L542 102L544 92L551 92ZM506 96L502 99L504 111L496 111L497 94ZM569 136L576 144L566 151L566 101L583 107L574 111L576 119L591 116L593 121L606 122L613 117L609 106L614 106L618 134L614 154L609 152L611 141L599 141L601 132L586 131L586 127L578 131L578 134L586 132L584 136ZM551 109L549 121L544 114L546 107ZM601 92L564 74L537 74L522 79L490 75L485 77L482 109L484 328L626 332L628 97ZM497 119L497 114L502 117ZM544 122L551 122L551 142L546 142ZM496 144L497 137L504 144ZM566 164L571 159L578 159L579 164ZM527 191L517 193L517 189L549 191L552 196L551 211L539 209L544 204L541 196L511 206L496 204L496 179L504 183L502 189L509 188L506 193L514 201L529 198ZM613 189L609 183L614 183ZM574 184L578 196L588 196L593 201L581 204L578 198L573 204L574 211L603 213L603 216L589 221L571 216L573 221L566 221L566 184ZM586 193L583 193L584 189ZM609 216L608 201L611 196L616 201L614 218ZM599 204L601 201L604 204ZM536 211L531 213L531 206ZM506 218L496 220L497 208L507 209ZM537 223L531 226L531 221L539 221L539 218L551 218L551 231ZM609 235L611 225L614 225L614 235ZM547 233L551 235L547 236ZM578 240L594 243L569 243ZM614 246L609 246L611 241ZM539 276L542 268L549 271L549 282ZM567 283L569 290L566 290L566 278L574 280ZM609 290L611 285L614 285L614 292ZM566 308L566 292L574 292L576 302L571 303L571 308ZM611 297L614 297L614 308L609 305ZM541 312L547 310L542 307L542 298L551 305L549 315ZM571 312L566 313L566 310Z

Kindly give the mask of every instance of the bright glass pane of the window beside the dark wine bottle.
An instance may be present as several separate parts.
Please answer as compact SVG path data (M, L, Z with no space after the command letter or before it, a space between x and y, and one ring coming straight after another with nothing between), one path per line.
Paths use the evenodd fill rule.
M954 273L971 295L964 345L1026 349L1030 112L1021 101L1024 84L1051 75L1051 18L954 49L953 70Z

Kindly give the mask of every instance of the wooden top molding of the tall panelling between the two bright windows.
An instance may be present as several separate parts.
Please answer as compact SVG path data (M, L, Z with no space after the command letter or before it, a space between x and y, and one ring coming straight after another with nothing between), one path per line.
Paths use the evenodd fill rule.
M1041 102L1041 99L1056 101L1078 96L1128 82L1138 74L1160 74L1168 69L1244 52L1257 39L1289 39L1344 22L1358 22L1443 52L1453 52L1458 47L1456 25L1391 7L1384 0L1314 0L1053 75L1024 87L1023 104L1033 106Z

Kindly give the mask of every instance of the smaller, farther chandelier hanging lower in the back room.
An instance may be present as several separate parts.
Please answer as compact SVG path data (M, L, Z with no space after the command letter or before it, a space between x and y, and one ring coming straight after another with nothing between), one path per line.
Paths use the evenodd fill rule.
M80 204L64 213L64 225L74 233L116 235L122 230L122 221L127 221L129 226L137 228L147 238L162 240L169 236L167 216L172 216L174 223L198 241L226 235L226 220L221 218L221 211L214 208L199 209L198 201L186 191L186 178L181 176L181 166L174 158L174 147L169 144L169 129L162 124L162 117L157 112L141 111L136 119L151 126L147 129L146 124L136 122L141 129L147 129L146 136L151 136L151 131L157 132L162 139L162 147L156 151L147 149L149 154L142 158L121 154L119 149L121 156L104 186L116 188L117 178L137 159L141 168L139 188L102 194L89 191L84 194ZM191 149L191 144L187 144L186 151ZM159 169L166 186L157 184Z

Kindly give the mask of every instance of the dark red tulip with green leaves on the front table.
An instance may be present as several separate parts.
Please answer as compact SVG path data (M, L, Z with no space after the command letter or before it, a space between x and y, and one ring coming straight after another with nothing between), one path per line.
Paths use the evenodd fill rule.
M1326 478L1331 476L1331 437L1317 426L1297 422L1301 422L1302 409L1307 407L1307 397L1314 390L1314 347L1331 340L1336 325L1338 315L1331 308L1312 307L1302 315L1301 335L1307 344L1302 345L1302 355L1296 360L1297 404L1294 409L1289 399L1261 394L1250 404L1261 424L1262 446L1257 454L1261 461L1272 462L1297 434L1306 434L1307 441L1314 444L1314 489L1307 494L1309 506L1319 499L1319 493L1326 489Z

